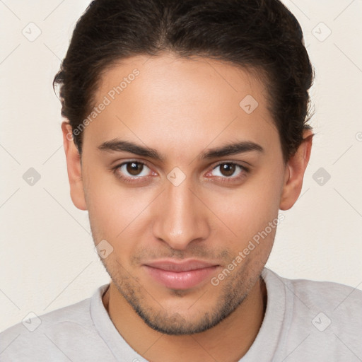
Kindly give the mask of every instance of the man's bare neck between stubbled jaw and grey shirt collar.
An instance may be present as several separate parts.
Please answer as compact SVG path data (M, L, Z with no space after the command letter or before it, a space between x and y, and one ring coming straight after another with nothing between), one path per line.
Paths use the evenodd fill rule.
M238 308L202 333L170 336L146 325L111 282L103 304L119 334L148 361L239 361L250 349L262 325L267 288L260 277Z

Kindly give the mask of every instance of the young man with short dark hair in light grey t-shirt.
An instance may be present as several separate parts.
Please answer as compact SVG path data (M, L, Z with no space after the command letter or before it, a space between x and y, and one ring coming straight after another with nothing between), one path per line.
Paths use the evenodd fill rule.
M54 82L112 281L7 329L0 361L361 361L361 291L264 268L310 158L312 81L278 0L93 1Z

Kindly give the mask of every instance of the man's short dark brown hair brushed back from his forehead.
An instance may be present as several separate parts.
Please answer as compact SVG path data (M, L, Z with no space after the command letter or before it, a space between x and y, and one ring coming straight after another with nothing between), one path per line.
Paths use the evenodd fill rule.
M161 52L230 62L264 78L284 162L310 129L313 68L279 0L94 0L78 20L53 86L72 129L94 107L100 76L120 59ZM74 135L81 153L82 133Z

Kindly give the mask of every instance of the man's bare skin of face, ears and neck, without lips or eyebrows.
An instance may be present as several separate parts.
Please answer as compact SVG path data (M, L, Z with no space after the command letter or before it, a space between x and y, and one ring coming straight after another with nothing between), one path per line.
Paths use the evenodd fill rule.
M71 127L62 124L71 199L88 210L95 244L107 240L113 247L102 259L112 279L103 303L122 337L148 361L238 361L262 324L267 291L260 273L276 229L218 286L207 278L186 290L167 288L144 264L201 259L217 264L211 276L218 276L279 209L298 199L312 133L305 131L285 165L262 81L200 57L124 60L103 74L95 104L134 69L139 76L84 130L81 157L69 140ZM251 114L239 106L246 95L259 103ZM165 159L98 148L115 139L148 146ZM264 151L201 158L235 141ZM116 168L127 161L146 163L138 180L126 166ZM228 174L220 163L249 171L236 166ZM167 178L175 167L186 177L178 186Z

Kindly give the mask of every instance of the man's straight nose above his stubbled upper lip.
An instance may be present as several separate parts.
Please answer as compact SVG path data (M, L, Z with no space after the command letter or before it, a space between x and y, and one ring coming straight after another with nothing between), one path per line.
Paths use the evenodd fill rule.
M211 228L207 207L190 182L175 186L166 182L166 189L155 205L153 235L175 250L185 250L190 243L205 240Z

